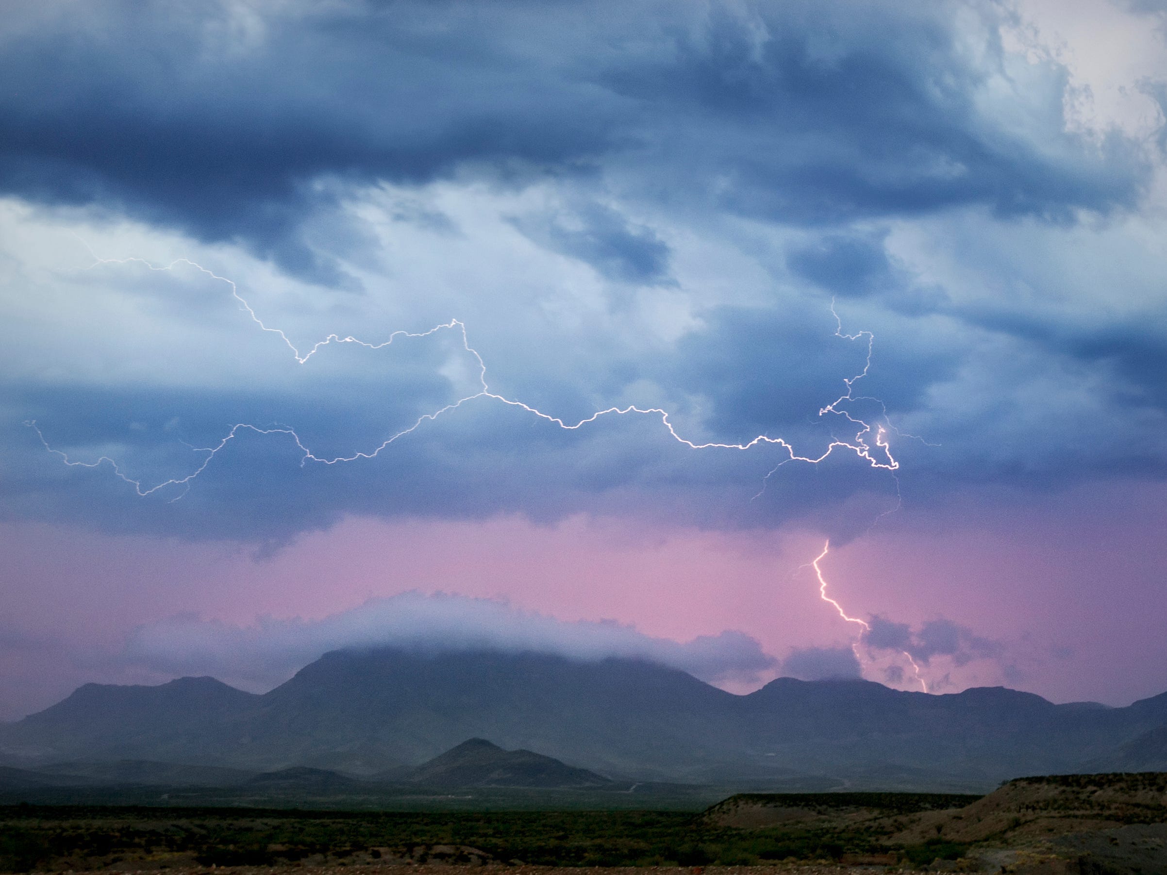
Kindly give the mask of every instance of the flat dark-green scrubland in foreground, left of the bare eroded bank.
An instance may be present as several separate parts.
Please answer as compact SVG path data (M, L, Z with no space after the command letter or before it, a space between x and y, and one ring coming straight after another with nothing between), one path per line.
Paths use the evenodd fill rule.
M902 813L937 804L935 794L879 796ZM830 810L834 803L830 797L799 794L797 802ZM854 802L833 807L850 813ZM920 849L889 849L876 833L857 828L846 816L743 830L705 813L679 811L407 813L23 805L0 808L0 835L4 872L373 862L694 867L784 860L889 862L955 853L955 846L938 852L923 842Z

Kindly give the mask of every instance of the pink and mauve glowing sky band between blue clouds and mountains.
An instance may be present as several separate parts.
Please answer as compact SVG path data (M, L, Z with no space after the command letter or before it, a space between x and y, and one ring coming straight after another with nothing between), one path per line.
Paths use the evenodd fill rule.
M955 617L1002 642L999 657L964 667L932 660L923 677L935 692L1004 682L1055 701L1112 705L1161 692L1167 642L1154 606L1167 544L1155 534L1167 524L1167 491L1112 484L1011 514L978 517L976 506L929 514L909 506L834 547L823 562L830 594L859 616ZM119 656L128 632L162 617L242 626L264 616L316 620L408 590L502 598L564 621L615 620L678 640L741 630L780 658L847 645L853 635L799 568L822 546L806 530L349 519L270 558L63 526L7 525L2 538L7 631L25 638L7 653L8 718L86 680L165 679ZM33 578L37 587L22 586Z

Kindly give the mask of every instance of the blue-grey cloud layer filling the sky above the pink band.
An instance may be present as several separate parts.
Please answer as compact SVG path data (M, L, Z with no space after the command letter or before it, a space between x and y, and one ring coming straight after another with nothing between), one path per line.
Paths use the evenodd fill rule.
M1167 265L1124 225L1153 220L1160 156L1068 125L1070 71L1008 49L1014 23L956 0L27 5L0 24L0 76L22 83L0 94L0 192L62 225L128 218L274 265L295 293L265 317L300 318L309 343L457 315L509 397L568 419L661 405L698 440L782 435L810 455L850 436L818 411L864 366L862 338L832 336L834 298L844 330L878 336L848 413L938 444L890 433L914 501L1162 476ZM21 317L49 300L37 281L93 290L0 280ZM85 280L140 287L142 330L114 341L131 360L191 326L232 341L175 385L167 364L119 378L85 350L75 371L47 354L26 369L36 330L5 320L0 371L23 374L0 377L9 518L278 544L350 513L636 512L839 538L895 501L844 454L783 467L749 502L781 455L694 454L651 420L565 433L478 401L352 466L301 467L286 435L246 434L181 502L140 501L19 424L156 482L197 467L181 441L236 422L293 425L324 454L375 447L462 397L474 362L432 338L272 378L249 369L273 338L230 299L172 300L133 267ZM407 299L393 320L386 287ZM42 337L65 309L46 307ZM950 646L941 631L921 652Z

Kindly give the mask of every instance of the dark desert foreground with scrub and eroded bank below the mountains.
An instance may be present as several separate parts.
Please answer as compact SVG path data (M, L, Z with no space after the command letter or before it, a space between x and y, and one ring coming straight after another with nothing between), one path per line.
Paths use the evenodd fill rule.
M986 797L740 793L704 811L22 804L0 806L0 872L390 864L972 870L990 861L993 870L1026 873L1033 861L1033 872L1055 861L1071 867L1065 872L1110 875L1165 870L1165 831L1161 774L1019 778Z

